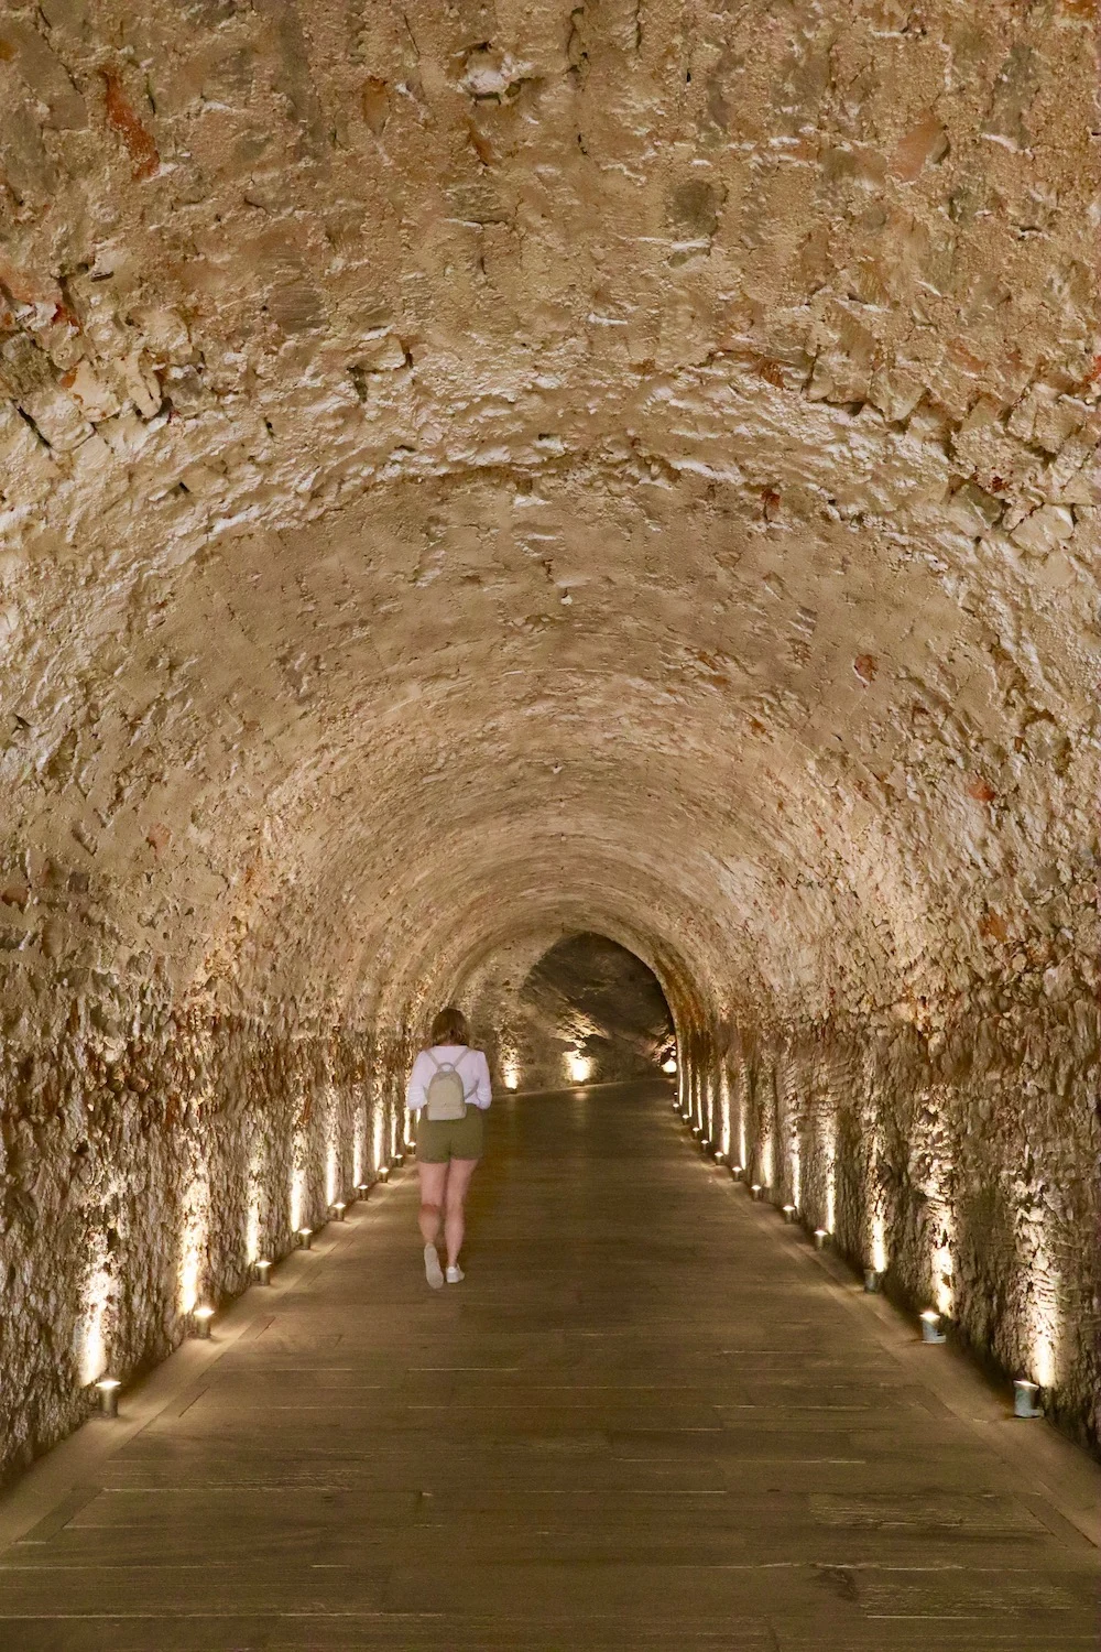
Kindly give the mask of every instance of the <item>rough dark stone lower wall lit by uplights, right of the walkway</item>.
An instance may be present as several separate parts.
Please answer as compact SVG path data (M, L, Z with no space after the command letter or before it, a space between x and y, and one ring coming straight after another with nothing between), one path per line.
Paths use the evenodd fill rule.
M723 1039L720 1039L723 1042ZM697 1052L713 1142L1048 1414L1101 1437L1101 1037L1091 1003L957 1004L728 1032Z

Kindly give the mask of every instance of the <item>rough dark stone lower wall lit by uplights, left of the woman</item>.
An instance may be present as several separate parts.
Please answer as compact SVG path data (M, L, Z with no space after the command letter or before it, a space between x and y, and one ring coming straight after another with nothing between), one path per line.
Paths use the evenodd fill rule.
M396 1123L358 1041L180 1014L163 981L61 1008L5 1037L0 1480L373 1181Z

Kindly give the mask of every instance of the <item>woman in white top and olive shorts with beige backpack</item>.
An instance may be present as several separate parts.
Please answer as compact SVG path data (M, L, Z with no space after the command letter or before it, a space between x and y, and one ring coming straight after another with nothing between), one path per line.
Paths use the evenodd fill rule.
M406 1105L416 1115L416 1170L421 1178L421 1237L424 1277L432 1290L444 1284L439 1229L447 1246L447 1284L462 1279L464 1204L474 1166L482 1156L484 1118L492 1095L489 1062L469 1046L467 1021L449 1004L432 1021L431 1049L413 1062Z

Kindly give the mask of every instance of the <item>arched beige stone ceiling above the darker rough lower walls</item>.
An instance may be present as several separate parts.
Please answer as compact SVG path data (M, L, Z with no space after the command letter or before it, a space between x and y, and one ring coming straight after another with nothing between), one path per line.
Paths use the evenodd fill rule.
M50 0L0 111L28 971L1093 978L1086 7Z

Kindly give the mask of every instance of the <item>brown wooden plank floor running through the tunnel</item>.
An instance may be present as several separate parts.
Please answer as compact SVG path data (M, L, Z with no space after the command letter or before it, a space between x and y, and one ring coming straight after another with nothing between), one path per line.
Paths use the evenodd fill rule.
M0 1551L5 1652L1096 1652L1098 1550L1014 1460L1047 1426L946 1404L664 1087L490 1125L465 1282L413 1175L330 1226Z

